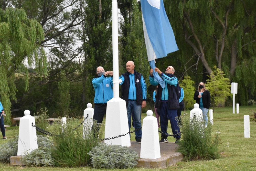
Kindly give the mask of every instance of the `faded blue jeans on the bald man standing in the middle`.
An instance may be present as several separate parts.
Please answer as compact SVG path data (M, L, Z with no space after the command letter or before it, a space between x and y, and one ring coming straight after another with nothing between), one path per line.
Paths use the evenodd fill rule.
M131 113L133 112L135 130L141 127L141 105L138 105L136 100L128 100L128 105L126 106L129 132L131 127ZM141 129L135 131L135 140L141 139L142 131ZM131 135L130 135L131 138Z

